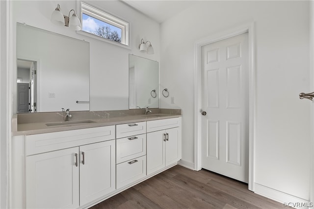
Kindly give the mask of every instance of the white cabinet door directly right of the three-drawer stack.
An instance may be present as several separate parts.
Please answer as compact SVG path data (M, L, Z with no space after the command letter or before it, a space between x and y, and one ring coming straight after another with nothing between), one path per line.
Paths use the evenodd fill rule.
M165 167L164 130L147 133L147 175Z

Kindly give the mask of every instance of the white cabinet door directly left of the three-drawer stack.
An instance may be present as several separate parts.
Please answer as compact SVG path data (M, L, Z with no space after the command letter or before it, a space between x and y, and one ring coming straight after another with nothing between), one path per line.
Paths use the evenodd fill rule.
M115 140L79 147L80 206L115 190Z

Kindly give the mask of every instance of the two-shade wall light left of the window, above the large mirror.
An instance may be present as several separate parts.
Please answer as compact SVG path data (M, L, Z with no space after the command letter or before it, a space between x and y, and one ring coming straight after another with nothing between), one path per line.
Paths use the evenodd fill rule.
M73 15L70 18L70 13L73 11ZM51 22L57 25L64 25L70 27L74 30L80 30L81 24L78 19L77 14L74 9L71 9L69 12L69 16L65 16L62 14L60 5L58 4L55 10L51 14Z

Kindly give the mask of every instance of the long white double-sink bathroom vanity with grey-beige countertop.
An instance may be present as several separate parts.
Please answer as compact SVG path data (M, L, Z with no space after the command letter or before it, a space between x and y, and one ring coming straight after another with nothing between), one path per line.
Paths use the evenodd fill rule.
M66 122L51 121L59 113L14 116L12 208L89 208L176 165L181 111L156 110Z

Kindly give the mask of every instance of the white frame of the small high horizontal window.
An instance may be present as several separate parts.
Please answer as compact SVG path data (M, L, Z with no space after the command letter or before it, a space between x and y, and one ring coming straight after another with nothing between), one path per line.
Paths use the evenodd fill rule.
M80 35L88 36L93 39L97 39L100 41L104 41L109 44L113 44L116 46L121 46L124 48L131 49L131 37L130 37L130 23L128 21L125 21L124 19L113 15L104 9L101 9L93 4L87 3L86 1L77 1L77 10L78 10L78 16L80 18L81 24L82 24L82 14L86 14L88 16L91 16L93 18L96 18L102 22L111 24L115 27L118 27L121 29L121 43L115 42L106 38L103 38L101 36L83 31L78 30L77 33Z

